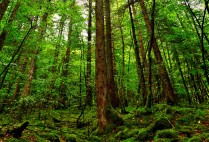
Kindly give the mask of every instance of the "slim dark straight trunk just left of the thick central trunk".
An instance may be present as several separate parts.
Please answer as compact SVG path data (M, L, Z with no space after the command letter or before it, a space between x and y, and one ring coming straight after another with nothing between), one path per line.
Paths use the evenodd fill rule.
M91 41L92 41L92 0L89 0L89 19L88 19L88 48L87 48L87 69L86 69L86 104L92 105L92 86L91 86Z

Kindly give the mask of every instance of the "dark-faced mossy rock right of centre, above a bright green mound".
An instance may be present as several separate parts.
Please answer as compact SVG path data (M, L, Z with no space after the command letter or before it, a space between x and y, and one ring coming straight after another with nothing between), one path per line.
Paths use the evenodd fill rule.
M172 125L166 118L159 118L154 123L154 126L152 128L153 132L156 132L157 130L163 130L163 129L171 129Z

